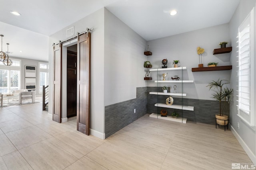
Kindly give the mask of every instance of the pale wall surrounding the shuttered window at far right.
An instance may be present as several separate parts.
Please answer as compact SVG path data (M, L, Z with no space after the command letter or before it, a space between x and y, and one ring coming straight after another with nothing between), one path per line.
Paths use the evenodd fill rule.
M246 16L250 13L252 8L255 6L256 0L241 0L240 4L238 5L236 12L234 13L232 19L230 20L230 38L232 40L232 46L233 46L233 52L231 53L230 57L230 62L233 65L232 69L232 74L231 74L231 87L234 89L234 96L238 95L236 92L237 90L237 70L236 66L238 66L238 59L236 51L238 50L236 46L238 45L236 41L238 40L236 38L237 33L238 33L238 27L244 21ZM255 57L255 56L254 56ZM255 76L254 76L255 77ZM237 98L234 98L237 100ZM256 164L256 158L255 158L255 153L256 153L256 134L255 134L255 129L252 129L249 127L244 121L242 121L238 116L238 111L237 111L237 102L234 101L230 105L230 124L232 125L232 128L234 128L235 133L238 134L239 138L242 139L241 145L244 147L246 150L247 154L250 156L250 158L254 161L254 164ZM239 122L240 128L238 129L237 123ZM238 139L239 139L238 138ZM238 140L239 141L239 140ZM246 149L246 148L247 149ZM252 158L254 156L254 158ZM247 163L247 162L246 162Z

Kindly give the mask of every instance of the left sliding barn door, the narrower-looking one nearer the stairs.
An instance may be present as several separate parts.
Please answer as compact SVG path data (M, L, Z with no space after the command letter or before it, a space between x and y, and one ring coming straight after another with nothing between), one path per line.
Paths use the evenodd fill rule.
M53 46L53 110L52 120L61 123L62 45Z

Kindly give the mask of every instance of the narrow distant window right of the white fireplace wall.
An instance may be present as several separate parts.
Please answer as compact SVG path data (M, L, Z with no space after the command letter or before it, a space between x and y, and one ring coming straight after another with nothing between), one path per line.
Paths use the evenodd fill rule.
M49 79L49 64L48 63L39 63L39 93L43 92L43 86L48 86Z

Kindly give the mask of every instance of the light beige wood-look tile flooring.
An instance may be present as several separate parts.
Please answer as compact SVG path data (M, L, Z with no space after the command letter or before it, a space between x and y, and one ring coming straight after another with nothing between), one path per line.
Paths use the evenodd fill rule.
M56 123L41 103L0 108L0 170L230 170L252 163L231 131L150 118L101 140Z

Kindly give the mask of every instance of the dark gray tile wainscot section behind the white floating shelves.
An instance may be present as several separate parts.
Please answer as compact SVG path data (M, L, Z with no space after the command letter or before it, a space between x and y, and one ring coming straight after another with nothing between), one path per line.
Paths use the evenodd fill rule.
M168 98L168 96L149 94L149 92L157 92L157 90L158 92L162 92L162 87L148 87L147 113L160 114L161 109L166 109L168 115L171 115L175 111L179 113L180 117L183 115L184 118L187 118L188 121L215 125L215 114L219 113L218 101L183 98L183 105L194 106L194 111L155 107L154 104L165 103L166 98ZM174 96L172 98L174 99L173 104L182 105L182 98L174 98ZM229 116L229 104L227 102L223 114Z

